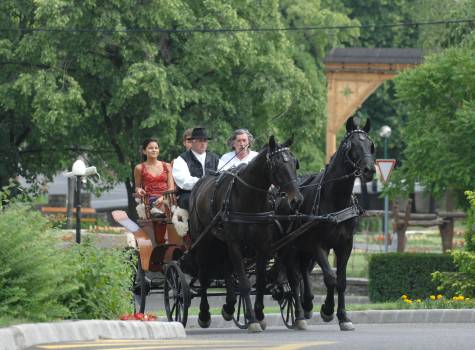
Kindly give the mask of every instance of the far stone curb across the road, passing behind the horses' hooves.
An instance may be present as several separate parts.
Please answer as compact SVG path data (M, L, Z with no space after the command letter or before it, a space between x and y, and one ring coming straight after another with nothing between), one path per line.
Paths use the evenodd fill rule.
M431 310L368 310L349 311L348 317L354 324L371 323L475 323L475 309L431 309ZM166 320L166 318L160 318ZM282 327L284 323L280 314L267 314L268 327ZM320 314L314 313L308 325L335 324L335 319L324 322ZM221 316L211 316L211 328L236 328L233 321L225 321ZM186 329L197 329L198 316L189 316Z

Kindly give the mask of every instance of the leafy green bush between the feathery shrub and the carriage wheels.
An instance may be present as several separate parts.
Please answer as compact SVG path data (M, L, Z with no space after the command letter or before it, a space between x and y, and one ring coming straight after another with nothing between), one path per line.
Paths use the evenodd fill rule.
M78 269L73 280L78 289L63 302L75 319L117 319L132 312L133 251L101 249L90 240L69 249Z

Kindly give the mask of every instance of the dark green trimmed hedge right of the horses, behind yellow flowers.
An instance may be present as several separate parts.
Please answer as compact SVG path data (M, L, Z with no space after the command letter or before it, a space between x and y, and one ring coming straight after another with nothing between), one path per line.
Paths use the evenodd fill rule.
M394 301L403 294L425 298L435 294L434 271L454 271L450 255L427 253L373 254L369 258L369 297L373 302Z

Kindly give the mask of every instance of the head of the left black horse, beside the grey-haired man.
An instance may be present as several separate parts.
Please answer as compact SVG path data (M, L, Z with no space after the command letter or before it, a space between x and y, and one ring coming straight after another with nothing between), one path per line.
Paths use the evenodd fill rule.
M271 183L279 193L285 193L292 210L302 204L303 196L297 183L298 160L290 152L293 136L279 145L274 136L269 138L267 164Z

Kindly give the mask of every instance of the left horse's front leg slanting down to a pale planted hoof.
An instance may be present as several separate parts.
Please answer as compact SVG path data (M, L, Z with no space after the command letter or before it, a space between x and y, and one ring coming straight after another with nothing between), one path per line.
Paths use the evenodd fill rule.
M243 297L244 302L246 303L246 320L249 322L248 331L249 332L262 332L262 328L257 322L254 309L252 308L251 303L251 283L246 276L246 270L244 268L244 263L240 251L239 242L234 240L227 242L229 257L231 259L235 273L239 279L239 293Z

